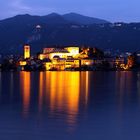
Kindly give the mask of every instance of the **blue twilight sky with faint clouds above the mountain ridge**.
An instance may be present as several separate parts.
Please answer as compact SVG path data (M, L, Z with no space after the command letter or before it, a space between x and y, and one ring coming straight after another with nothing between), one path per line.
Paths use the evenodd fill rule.
M140 22L140 0L0 0L0 19L17 14L79 14L112 22Z

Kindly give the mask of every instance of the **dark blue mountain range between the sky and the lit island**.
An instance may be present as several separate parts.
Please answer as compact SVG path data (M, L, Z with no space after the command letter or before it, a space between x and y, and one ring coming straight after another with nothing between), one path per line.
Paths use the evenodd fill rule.
M0 53L19 53L25 43L33 52L52 45L87 45L101 49L137 51L139 23L109 21L76 13L46 16L17 15L0 21Z

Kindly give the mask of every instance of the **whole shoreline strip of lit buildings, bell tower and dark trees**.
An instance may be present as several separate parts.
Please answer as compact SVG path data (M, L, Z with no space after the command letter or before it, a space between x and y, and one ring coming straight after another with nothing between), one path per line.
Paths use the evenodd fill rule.
M31 55L31 47L24 46L24 56L8 57L0 62L0 69L25 71L64 71L64 70L131 70L139 68L137 54L128 57L106 55L97 48L64 47L44 48L42 53Z

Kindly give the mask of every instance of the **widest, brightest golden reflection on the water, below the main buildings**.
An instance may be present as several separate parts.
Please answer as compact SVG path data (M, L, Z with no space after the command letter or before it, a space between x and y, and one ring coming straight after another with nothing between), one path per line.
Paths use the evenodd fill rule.
M69 126L75 125L79 110L80 73L47 72L46 79L50 89L51 115L55 115L56 112L66 112Z

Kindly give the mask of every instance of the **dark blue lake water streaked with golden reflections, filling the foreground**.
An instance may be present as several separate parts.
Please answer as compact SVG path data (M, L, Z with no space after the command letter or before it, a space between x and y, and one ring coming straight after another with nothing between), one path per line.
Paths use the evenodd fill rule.
M0 140L140 140L140 73L0 72Z

